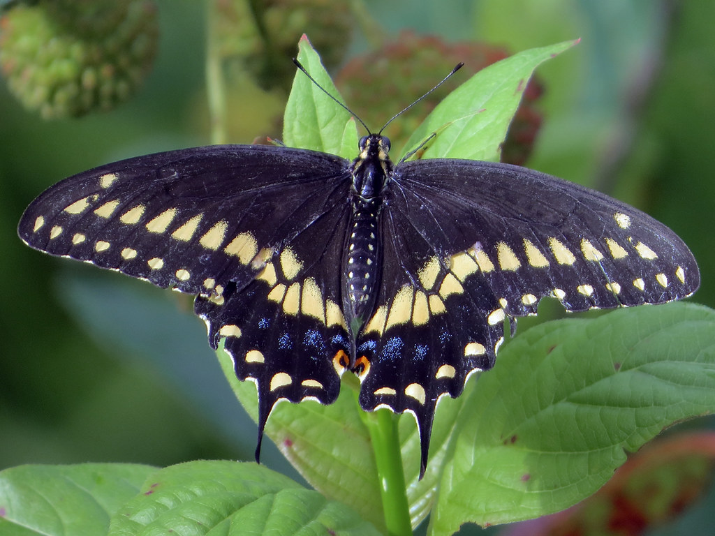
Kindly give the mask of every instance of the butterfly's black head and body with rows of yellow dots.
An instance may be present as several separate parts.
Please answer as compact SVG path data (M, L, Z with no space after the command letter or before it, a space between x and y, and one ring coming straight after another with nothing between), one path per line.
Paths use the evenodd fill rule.
M363 322L375 304L380 281L380 212L383 189L393 163L390 140L379 134L360 139L360 156L352 162L352 216L345 238L343 302L348 314Z

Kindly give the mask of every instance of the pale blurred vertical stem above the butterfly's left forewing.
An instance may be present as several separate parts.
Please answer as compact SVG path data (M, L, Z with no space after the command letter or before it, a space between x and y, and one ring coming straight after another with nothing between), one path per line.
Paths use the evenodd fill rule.
M209 121L211 122L211 143L225 144L226 136L226 83L223 76L223 62L218 43L216 23L217 0L207 3L206 25L206 91L209 101Z

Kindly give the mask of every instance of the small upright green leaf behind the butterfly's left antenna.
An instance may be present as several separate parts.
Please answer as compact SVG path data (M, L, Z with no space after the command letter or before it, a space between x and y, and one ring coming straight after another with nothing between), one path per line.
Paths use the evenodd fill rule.
M298 61L315 81L340 102L342 97L322 66L310 41L303 36L298 43ZM352 125L355 143L347 147L345 138ZM347 110L317 87L305 73L297 70L283 116L283 142L288 147L313 149L352 159L358 150L355 122ZM345 147L350 150L345 154Z

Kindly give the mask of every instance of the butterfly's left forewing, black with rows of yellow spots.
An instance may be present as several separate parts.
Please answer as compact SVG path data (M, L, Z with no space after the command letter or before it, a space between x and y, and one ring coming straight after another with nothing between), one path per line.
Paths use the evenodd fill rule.
M160 287L220 294L250 281L262 269L255 259L325 212L333 189L347 192L346 166L260 146L153 154L56 184L28 207L19 234L36 249Z

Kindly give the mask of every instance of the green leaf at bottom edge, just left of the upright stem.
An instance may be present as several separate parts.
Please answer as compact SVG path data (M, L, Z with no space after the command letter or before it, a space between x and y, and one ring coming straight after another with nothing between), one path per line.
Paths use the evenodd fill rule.
M349 507L254 463L204 461L152 475L109 536L378 535Z

